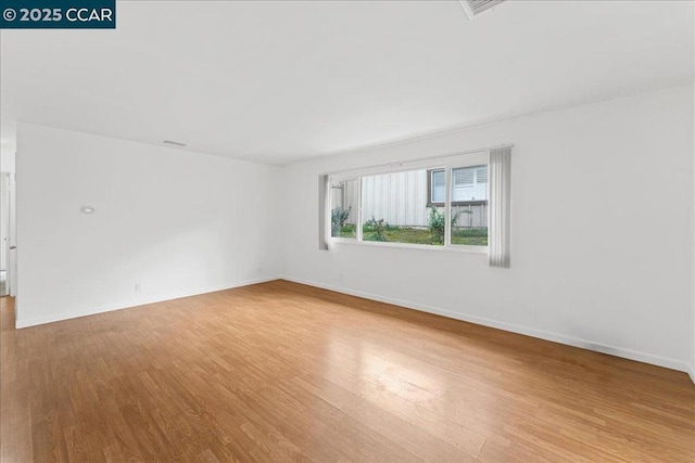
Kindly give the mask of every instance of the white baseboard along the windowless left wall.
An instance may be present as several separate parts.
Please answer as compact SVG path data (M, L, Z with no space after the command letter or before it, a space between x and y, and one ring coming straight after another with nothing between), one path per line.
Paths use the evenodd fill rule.
M225 290L231 290L231 288L235 288L235 287L249 286L251 284L265 283L265 282L268 282L268 281L279 280L279 279L281 279L281 276L264 276L264 278L260 278L260 279L253 279L253 280L245 280L245 281L236 282L236 283L229 283L229 284L225 284L225 285L222 285L222 286L211 286L211 287L206 287L206 288L203 288L203 290L194 291L192 293L190 293L190 292L179 292L179 293L160 295L160 296L156 296L156 297L151 297L151 298L148 298L148 299L138 300L137 304L134 304L134 305L127 305L127 306L105 305L105 306L102 306L102 307L98 307L96 309L75 310L75 311L61 312L61 313L51 313L50 316L35 317L35 318L30 318L30 319L17 319L16 322L15 322L15 327L17 330L20 330L20 329L23 329L23 327L36 326L36 325L46 324L46 323L60 322L60 321L63 321L63 320L76 319L76 318L79 318L79 317L87 317L87 316L94 316L97 313L112 312L114 310L130 309L132 307L146 306L148 304L164 303L166 300L180 299L182 297L198 296L198 295L201 295L201 294L215 293L217 291L225 291ZM21 312L21 310L20 310L20 312Z

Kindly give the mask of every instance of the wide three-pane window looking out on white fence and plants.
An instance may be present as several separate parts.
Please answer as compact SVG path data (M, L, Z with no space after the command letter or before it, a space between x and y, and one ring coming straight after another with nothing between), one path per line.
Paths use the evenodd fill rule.
M475 153L331 176L331 241L486 249L486 163Z

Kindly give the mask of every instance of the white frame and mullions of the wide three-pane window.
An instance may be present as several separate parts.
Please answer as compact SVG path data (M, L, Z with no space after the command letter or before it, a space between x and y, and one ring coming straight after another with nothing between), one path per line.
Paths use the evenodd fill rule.
M407 249L422 249L432 250L437 253L441 252L454 252L454 253L469 253L469 254L488 254L488 246L473 246L463 244L451 243L451 203L452 203L452 169L460 167L472 167L485 165L489 166L489 152L480 151L466 154L457 154L445 157L420 159L409 163L395 163L388 166L368 167L364 169L355 169L348 172L337 172L330 175L329 184L332 182L355 180L357 182L357 236L352 237L338 237L330 236L329 242L331 244L350 244L358 246L378 246L378 247L401 247ZM438 206L444 206L446 228L444 229L444 245L430 245L430 244L412 244L412 243L392 243L392 242L379 242L379 241L363 241L363 206L362 206L362 180L363 177L395 173L409 170L439 170L444 169L445 172L445 201L444 203L437 203ZM490 182L488 182L488 197L490 197ZM441 206L440 206L441 207ZM485 211L489 214L489 209ZM488 222L490 218L488 217ZM328 214L328 230L330 230L330 214Z

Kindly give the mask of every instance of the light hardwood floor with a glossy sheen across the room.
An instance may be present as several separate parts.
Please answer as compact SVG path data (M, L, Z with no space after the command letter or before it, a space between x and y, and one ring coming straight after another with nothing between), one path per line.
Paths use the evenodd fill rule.
M276 281L16 331L2 462L695 460L675 371Z

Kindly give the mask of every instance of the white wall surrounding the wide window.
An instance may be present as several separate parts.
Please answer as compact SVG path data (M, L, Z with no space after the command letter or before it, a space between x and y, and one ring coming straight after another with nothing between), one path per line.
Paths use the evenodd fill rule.
M475 254L317 249L319 173L501 143L516 143L511 269ZM692 86L292 165L283 179L289 279L688 368Z

